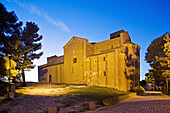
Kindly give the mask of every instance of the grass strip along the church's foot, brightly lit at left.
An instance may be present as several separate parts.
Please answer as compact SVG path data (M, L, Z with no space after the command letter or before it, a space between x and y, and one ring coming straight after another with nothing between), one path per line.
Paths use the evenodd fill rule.
M117 96L130 94L130 92L123 92L113 88L99 87L99 86L86 86L75 84L46 84L20 87L16 92L26 95L44 95L44 96L68 96L77 95L81 98L90 100L104 100Z

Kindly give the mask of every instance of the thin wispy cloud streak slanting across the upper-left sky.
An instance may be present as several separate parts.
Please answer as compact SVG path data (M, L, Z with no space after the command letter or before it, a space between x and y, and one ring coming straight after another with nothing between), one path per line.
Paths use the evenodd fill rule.
M8 2L11 2L12 0L6 0ZM55 25L56 27L59 27L60 29L62 29L63 31L70 33L71 30L69 29L69 27L62 22L61 20L57 20L55 21L54 19L52 19L48 13L43 10L42 8L36 7L33 4L25 4L19 0L14 0L14 2L16 4L18 4L20 7L30 11L31 13L37 14L38 16L43 17L45 20L47 20L48 22L50 22L51 24Z

